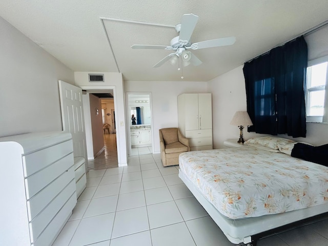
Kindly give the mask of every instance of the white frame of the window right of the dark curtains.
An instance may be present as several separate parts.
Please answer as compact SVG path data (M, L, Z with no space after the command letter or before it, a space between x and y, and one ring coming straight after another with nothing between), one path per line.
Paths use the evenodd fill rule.
M318 65L320 63L327 63L328 62L328 55L323 56L320 58L316 58L313 60L308 61L308 68ZM308 88L309 83L309 73L307 71L306 73L306 85L305 85L305 108L306 108L306 122L317 122L317 123L326 123L328 122L328 64L327 64L327 72L326 72L326 84L324 86L317 86L317 87L311 87ZM324 104L323 104L323 116L309 116L310 111L310 97L309 92L314 91L321 91L324 90Z

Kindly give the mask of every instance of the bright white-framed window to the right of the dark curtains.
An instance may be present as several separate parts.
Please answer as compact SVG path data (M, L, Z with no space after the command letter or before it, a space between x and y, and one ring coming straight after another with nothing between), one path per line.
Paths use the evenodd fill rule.
M323 117L328 108L328 61L323 61L324 59L328 60L328 57L309 61L306 72L306 121L309 122L326 122Z

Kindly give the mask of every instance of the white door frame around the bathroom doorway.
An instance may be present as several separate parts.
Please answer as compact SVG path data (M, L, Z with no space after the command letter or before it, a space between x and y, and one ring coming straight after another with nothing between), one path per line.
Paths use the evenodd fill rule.
M131 132L130 132L130 105L129 105L129 95L149 95L149 106L150 106L150 120L151 120L151 139L152 139L152 154L154 153L154 123L153 123L153 104L152 104L152 93L151 92L126 92L126 126L127 126L127 140L128 140L128 156L131 157Z

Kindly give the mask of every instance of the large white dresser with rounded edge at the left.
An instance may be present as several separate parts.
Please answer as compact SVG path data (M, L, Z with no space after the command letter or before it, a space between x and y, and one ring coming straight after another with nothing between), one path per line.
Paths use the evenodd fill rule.
M0 245L51 245L76 204L66 132L0 138Z

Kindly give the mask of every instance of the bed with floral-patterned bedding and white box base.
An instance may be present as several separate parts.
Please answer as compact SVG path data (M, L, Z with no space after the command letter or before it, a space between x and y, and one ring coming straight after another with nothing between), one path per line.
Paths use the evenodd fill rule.
M327 167L292 157L293 140L247 144L179 156L179 177L232 243L328 212Z

